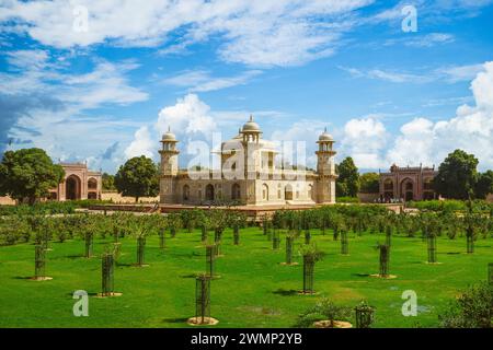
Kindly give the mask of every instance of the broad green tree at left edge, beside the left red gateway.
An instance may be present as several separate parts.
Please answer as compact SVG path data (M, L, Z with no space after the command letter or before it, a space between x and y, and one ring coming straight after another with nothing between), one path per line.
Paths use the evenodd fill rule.
M34 205L64 179L65 171L42 149L7 151L0 164L0 195Z

